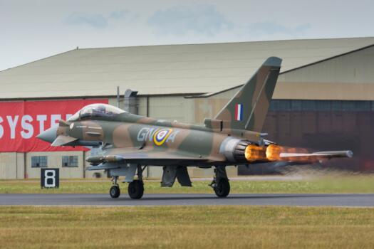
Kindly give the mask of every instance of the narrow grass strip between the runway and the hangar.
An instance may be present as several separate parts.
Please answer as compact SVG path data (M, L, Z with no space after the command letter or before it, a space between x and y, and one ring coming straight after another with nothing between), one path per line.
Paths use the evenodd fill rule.
M160 182L145 181L145 193L212 193L209 181L194 181L193 187L161 188ZM298 181L230 181L232 193L374 193L374 175L323 176ZM41 189L38 181L0 181L0 194L9 193L108 193L108 181L61 181L60 189ZM120 184L122 188L126 184Z

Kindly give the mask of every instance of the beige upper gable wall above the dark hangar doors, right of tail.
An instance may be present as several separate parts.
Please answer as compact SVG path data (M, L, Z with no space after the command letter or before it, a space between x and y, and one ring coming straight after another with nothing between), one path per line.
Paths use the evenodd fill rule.
M374 100L374 46L279 75L274 99Z

